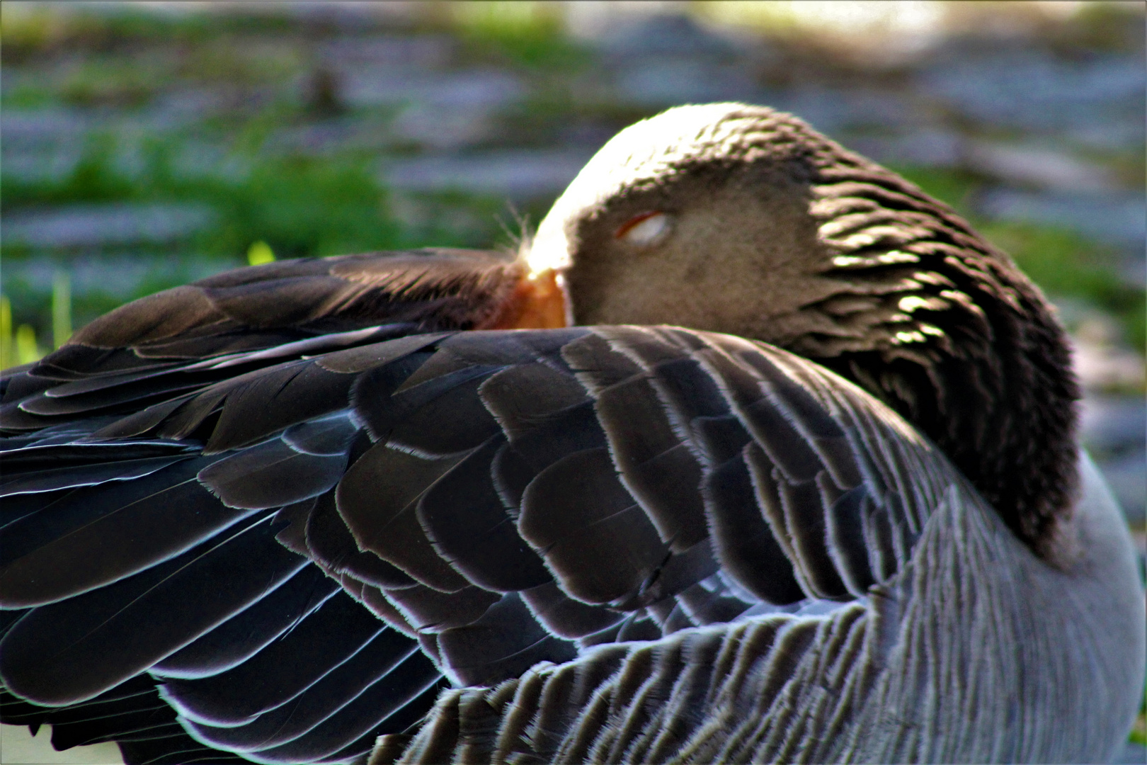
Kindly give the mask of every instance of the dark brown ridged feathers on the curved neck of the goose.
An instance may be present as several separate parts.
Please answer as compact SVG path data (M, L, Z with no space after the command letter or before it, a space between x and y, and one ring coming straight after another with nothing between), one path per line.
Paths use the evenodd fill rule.
M928 435L1037 553L1076 491L1067 337L1004 253L898 175L836 148L811 211L848 287L807 309L846 331L794 350L857 382ZM842 158L843 155L843 158Z

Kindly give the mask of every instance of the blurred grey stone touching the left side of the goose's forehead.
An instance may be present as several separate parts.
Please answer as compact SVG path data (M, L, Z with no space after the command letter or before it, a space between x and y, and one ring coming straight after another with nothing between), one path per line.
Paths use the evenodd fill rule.
M530 200L556 195L592 151L516 150L473 156L428 156L391 162L382 180L401 192L460 190Z

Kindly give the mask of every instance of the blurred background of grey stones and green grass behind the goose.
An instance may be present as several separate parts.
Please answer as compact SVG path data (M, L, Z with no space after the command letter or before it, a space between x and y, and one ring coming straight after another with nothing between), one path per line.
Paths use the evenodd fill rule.
M0 366L244 263L510 244L625 125L764 103L1045 289L1144 545L1141 1L5 0L0 32Z

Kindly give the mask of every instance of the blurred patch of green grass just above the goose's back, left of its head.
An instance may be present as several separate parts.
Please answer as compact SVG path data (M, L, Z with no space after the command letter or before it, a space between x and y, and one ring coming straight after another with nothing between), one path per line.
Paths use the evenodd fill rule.
M262 115L251 122L265 118ZM244 253L256 242L266 243L280 258L297 258L423 245L489 247L505 239L499 234L499 219L506 217L506 206L499 200L459 193L424 195L429 213L419 221L404 220L392 209L391 194L379 179L375 154L275 154L263 150L262 136L251 138L258 132L258 125L239 131L240 148L228 158L236 161L242 171L231 174L178 171L175 157L182 146L178 135L147 139L142 166L127 170L117 161L116 138L96 134L89 136L75 167L58 178L0 174L0 198L6 214L72 204L204 204L214 213L205 228L184 241L141 242L130 249L133 257L156 265L198 264L201 273L242 265ZM451 223L458 211L469 213L467 225ZM117 255L124 251L123 245L103 249ZM50 258L56 268L63 270L73 258L93 253L99 252L33 250L8 240L0 244L0 261ZM127 298L175 287L186 281L185 274L186 268L153 268ZM10 300L11 326L29 327L26 331L34 331L40 350L45 350L42 338L56 334L52 292L11 276L9 271L3 294ZM96 288L77 291L72 300L76 323L83 326L124 298ZM25 342L25 348L31 346Z

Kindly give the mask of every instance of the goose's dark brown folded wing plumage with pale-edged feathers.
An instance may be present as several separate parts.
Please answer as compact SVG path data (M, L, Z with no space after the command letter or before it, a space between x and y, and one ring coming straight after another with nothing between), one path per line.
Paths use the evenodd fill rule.
M935 458L880 405L704 333L444 331L508 279L457 259L206 280L9 377L0 592L36 608L0 643L7 693L78 710L150 670L112 700L146 723L116 728L132 762L166 756L133 725L187 762L346 762L443 676L494 685L904 565L941 481L904 483ZM25 707L6 720L63 719Z

